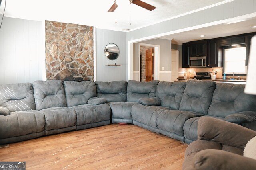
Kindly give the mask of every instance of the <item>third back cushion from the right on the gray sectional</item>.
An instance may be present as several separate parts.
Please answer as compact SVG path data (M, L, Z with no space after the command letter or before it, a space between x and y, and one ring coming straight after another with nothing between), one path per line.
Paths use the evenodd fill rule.
M156 97L161 99L161 106L178 110L186 87L186 82L161 81L156 87Z

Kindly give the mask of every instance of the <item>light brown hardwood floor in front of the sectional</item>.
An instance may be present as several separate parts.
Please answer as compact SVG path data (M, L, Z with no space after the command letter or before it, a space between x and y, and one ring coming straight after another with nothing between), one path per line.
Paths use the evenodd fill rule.
M112 124L50 135L0 148L0 161L27 170L180 170L188 145L136 125Z

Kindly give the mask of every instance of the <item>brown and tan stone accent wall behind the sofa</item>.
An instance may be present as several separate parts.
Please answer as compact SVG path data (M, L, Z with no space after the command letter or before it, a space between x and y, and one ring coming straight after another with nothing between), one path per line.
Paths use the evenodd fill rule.
M93 81L93 27L45 21L46 80Z

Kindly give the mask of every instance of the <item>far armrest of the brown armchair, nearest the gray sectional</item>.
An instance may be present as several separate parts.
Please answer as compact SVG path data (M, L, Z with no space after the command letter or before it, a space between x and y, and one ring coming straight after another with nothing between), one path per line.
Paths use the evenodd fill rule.
M209 140L244 149L246 143L256 136L256 131L212 117L200 117L197 134L198 140Z

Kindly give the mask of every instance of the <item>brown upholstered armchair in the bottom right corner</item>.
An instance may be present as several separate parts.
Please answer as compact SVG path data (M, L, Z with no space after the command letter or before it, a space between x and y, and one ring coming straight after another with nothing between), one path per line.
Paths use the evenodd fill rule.
M256 131L201 117L197 133L198 140L185 151L182 170L256 170L256 159L243 156L244 147L256 136Z

